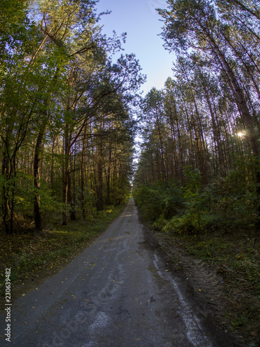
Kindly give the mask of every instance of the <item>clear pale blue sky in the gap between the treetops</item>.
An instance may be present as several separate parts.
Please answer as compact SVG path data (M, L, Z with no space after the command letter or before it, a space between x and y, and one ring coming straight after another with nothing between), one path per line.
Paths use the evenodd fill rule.
M164 41L158 36L162 32L163 22L155 8L166 8L165 0L99 0L98 12L112 10L110 15L102 17L103 33L112 36L128 33L125 51L135 53L142 73L147 81L142 85L143 96L152 87L162 89L168 76L173 76L171 68L174 56L163 47Z

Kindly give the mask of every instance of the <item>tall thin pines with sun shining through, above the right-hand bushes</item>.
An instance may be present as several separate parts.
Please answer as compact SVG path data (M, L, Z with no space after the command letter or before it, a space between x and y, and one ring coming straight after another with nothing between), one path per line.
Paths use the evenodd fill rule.
M259 1L167 3L158 11L165 48L176 55L174 76L144 98L135 186L180 185L186 205L193 201L197 210L203 198L196 194L207 193L209 213L223 210L240 221L246 215L248 226L258 228Z

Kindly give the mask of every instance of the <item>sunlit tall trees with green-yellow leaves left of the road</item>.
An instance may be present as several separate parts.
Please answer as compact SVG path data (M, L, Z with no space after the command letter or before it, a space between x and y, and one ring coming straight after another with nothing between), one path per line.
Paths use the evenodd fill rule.
M17 213L62 210L62 223L128 194L137 91L144 76L125 34L107 37L92 0L0 1L0 194Z

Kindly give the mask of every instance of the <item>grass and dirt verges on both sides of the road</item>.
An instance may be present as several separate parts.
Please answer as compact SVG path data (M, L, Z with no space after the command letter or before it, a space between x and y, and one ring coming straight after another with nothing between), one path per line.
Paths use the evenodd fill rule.
M6 237L0 232L0 307L5 301L6 268L11 268L14 300L67 266L122 210L123 206L104 212L92 221L69 221L67 226L60 226L59 217L51 217L42 235L27 230ZM220 327L236 335L242 345L260 346L259 242L253 248L253 240L238 232L173 236L146 225L144 235L165 255L173 273L184 273L189 294L201 296L201 314L210 310Z

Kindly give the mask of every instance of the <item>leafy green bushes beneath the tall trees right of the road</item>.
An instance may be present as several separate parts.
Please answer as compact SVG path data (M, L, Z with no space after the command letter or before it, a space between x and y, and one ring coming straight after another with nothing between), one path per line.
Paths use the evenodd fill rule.
M216 178L204 191L200 186L198 170L186 170L188 184L182 187L185 210L175 216L162 229L179 234L200 234L202 232L229 232L235 228L254 230L257 221L257 194L254 185L250 189L244 183L238 184L239 172L226 178Z

